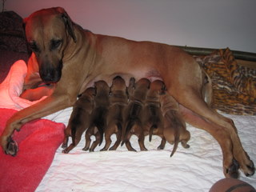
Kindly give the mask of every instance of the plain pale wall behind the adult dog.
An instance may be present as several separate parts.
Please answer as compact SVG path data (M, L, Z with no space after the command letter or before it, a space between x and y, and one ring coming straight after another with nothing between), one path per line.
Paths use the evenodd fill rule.
M6 0L5 7L26 17L51 6L97 34L256 52L256 0Z

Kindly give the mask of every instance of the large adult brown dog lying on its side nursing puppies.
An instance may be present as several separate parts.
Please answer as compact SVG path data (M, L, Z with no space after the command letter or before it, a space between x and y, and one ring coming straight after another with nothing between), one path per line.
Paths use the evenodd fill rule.
M43 82L56 83L50 97L20 110L6 123L1 146L15 155L18 147L14 130L26 122L73 106L78 94L94 81L111 83L117 75L127 81L158 77L180 104L182 118L192 126L209 132L223 154L223 173L238 177L254 174L254 163L243 149L234 122L211 110L202 99L202 69L185 51L155 42L134 42L124 38L93 34L70 20L60 7L39 10L25 19L26 38L38 62Z

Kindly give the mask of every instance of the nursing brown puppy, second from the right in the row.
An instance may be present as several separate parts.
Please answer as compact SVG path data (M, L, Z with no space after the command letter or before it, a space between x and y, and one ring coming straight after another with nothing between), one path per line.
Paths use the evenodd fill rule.
M155 80L150 83L150 90L146 94L145 107L143 109L143 130L144 135L150 135L150 142L152 134L156 134L162 138L162 142L158 149L163 149L166 143L163 137L163 115L160 104L160 95L165 89L165 85L160 80Z

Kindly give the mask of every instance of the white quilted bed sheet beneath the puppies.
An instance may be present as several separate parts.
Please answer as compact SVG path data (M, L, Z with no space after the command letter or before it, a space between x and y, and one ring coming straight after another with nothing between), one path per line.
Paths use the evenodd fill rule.
M67 125L72 108L52 114L47 118ZM224 114L232 118L238 134L250 158L256 160L256 116ZM130 152L125 146L116 151L82 151L85 139L70 154L62 154L59 147L54 162L36 191L174 191L206 192L223 178L222 152L218 142L206 131L187 125L190 130L190 148L179 144L177 152L170 158L172 145L165 150L156 150L161 142L157 136L149 142L148 151L139 151L137 137L131 138L138 152ZM115 140L115 135L112 136ZM241 174L242 181L256 187L255 175L251 178Z

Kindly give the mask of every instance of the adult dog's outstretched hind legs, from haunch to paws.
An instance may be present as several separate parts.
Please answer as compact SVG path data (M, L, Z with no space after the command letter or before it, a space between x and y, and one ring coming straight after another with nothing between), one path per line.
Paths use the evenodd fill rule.
M186 116L186 122L209 132L220 144L223 154L223 170L226 177L238 177L238 167L246 175L254 174L254 163L250 160L237 134L234 122L210 109L202 97L203 75L198 63L193 59L181 58L172 68L161 69L167 91L175 100L194 112ZM169 66L167 66L169 67ZM166 71L176 71L178 78ZM177 76L175 76L177 77ZM184 111L183 111L184 112ZM238 162L238 165L236 165Z

